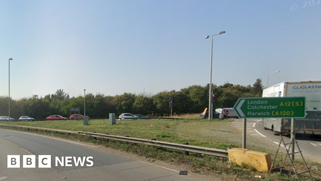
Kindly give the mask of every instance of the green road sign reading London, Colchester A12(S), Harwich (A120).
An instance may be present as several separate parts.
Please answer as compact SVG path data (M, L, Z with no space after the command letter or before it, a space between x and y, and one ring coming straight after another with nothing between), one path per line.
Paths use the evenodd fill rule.
M240 118L305 118L305 97L240 98Z

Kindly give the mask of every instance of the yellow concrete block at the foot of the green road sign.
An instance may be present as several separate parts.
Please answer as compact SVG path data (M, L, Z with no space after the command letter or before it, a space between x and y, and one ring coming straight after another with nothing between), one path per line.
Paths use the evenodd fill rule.
M272 158L268 153L243 148L232 148L227 151L229 152L229 160L239 166L245 163L258 171L268 172L272 165Z

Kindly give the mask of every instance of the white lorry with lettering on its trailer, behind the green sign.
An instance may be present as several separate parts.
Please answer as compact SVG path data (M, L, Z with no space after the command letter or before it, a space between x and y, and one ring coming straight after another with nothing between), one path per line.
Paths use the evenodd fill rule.
M306 99L306 118L295 119L295 131L302 134L321 135L321 81L282 82L263 90L262 97L296 97ZM264 129L275 135L291 131L291 119L263 120Z

